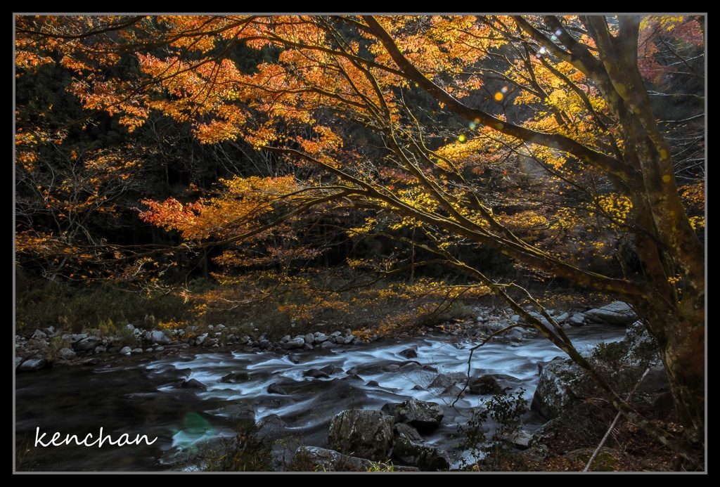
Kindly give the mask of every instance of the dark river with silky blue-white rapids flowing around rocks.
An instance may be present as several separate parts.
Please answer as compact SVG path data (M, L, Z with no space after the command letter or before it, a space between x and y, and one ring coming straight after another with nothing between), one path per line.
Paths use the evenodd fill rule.
M566 332L585 352L598 342L624 337L623 328L601 324ZM457 466L467 455L457 448L458 426L467 422L470 409L488 397L464 393L451 407L453 394L433 383L438 373L459 378L459 386L468 367L471 376L492 374L508 393L523 389L529 407L538 363L563 355L544 338L529 337L520 342L488 342L474 352L468 365L474 345L477 342L438 333L286 355L245 347L118 355L94 366L18 373L17 470L184 470L188 467L182 460L192 458L207 441L231 436L238 418L261 422L265 424L261 434L282 439L276 444L276 463L283 470L297 446L325 447L330 419L338 412L382 409L407 399L443 407L441 427L425 441L448 452ZM408 358L404 352L408 349L417 357ZM308 375L312 369L325 370L327 377ZM192 385L192 379L205 389L180 386L187 381ZM285 394L268 392L271 384ZM529 410L525 419L526 432L543 423ZM58 440L53 443L55 432ZM81 445L63 442L68 434L77 435ZM102 437L106 441L97 441Z

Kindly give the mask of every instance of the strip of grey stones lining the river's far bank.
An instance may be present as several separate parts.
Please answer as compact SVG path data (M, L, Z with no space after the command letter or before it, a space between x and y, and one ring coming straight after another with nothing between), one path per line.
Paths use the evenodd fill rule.
M524 320L510 309L491 309L476 307L477 319L469 322L442 324L439 329L446 330L456 340L474 339L493 332L509 328L499 340L518 342L523 337L536 335L536 330L523 327ZM549 321L531 311L547 326ZM627 326L636 317L624 303L616 302L602 308L589 309L585 312L557 312L549 310L549 315L562 326L580 327L590 322L604 322ZM187 350L190 347L217 349L220 347L248 347L251 350L268 350L285 353L291 350L323 350L332 347L348 347L361 345L368 341L378 340L377 334L358 340L356 333L346 327L343 330L328 330L332 325L318 324L315 332L285 335L279 340L271 341L265 335L253 336L253 331L246 326L225 326L224 324L207 325L207 327L191 326L175 329L143 329L133 324L126 324L120 330L88 329L81 333L68 332L55 327L35 329L32 334L15 335L15 369L18 372L40 370L51 365L95 365L107 358L108 354L143 354L174 350ZM418 334L431 331L425 327L418 329ZM395 337L395 340L407 338L407 334Z

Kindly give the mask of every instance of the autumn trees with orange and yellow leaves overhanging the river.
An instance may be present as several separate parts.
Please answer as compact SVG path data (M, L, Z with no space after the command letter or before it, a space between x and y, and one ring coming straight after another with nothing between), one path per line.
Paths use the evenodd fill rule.
M142 274L155 250L92 229L134 212L186 249L220 249L216 276L233 283L328 252L320 222L398 242L343 265L458 270L582 362L488 275L478 256L494 252L634 306L698 464L703 16L22 16L15 32L17 91L42 75L75 97L16 102L19 262ZM143 174L167 167L180 133L197 147L172 155L183 167L233 157L214 185L158 196Z

